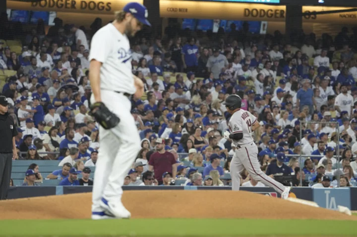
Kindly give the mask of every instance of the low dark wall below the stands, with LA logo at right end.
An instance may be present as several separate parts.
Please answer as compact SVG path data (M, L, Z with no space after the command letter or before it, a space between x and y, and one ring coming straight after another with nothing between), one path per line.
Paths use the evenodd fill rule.
M123 190L231 190L231 187L207 187L207 186L125 186ZM243 191L251 191L280 197L272 188L251 188L241 187ZM8 192L9 199L27 198L36 196L62 195L81 192L91 192L91 186L57 186L57 187L10 187ZM294 188L292 192L297 198L314 201L320 207L337 210L338 205L346 206L351 210L357 210L357 187L339 189L311 189Z

